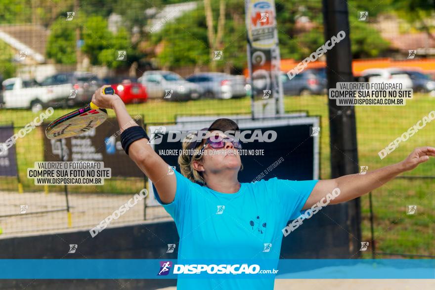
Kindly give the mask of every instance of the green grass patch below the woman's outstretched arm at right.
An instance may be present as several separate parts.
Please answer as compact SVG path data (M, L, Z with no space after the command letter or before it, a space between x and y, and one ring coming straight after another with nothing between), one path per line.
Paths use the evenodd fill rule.
M395 179L372 194L377 252L435 255L433 180ZM417 205L417 214L407 215L408 205ZM368 196L361 208L363 240L370 241Z

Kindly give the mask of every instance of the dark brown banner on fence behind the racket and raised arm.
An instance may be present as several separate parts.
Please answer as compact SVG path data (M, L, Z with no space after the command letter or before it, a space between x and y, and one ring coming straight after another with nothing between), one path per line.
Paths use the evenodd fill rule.
M143 126L142 119L136 121ZM45 131L48 123L44 123ZM63 147L63 161L102 161L112 168L112 176L143 177L143 172L134 164L121 147L118 122L109 118L106 122L84 134L50 140L44 137L44 160L61 161L60 142Z

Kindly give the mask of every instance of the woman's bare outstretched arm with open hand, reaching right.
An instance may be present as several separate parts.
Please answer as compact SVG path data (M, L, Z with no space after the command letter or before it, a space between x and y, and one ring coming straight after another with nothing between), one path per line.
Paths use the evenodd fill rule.
M360 197L384 185L400 173L412 170L420 163L428 161L430 156L435 156L434 147L419 147L414 149L405 160L368 171L366 174L349 174L334 179L319 180L303 209L312 207L337 187L340 189L340 195L331 200L331 204L339 204Z

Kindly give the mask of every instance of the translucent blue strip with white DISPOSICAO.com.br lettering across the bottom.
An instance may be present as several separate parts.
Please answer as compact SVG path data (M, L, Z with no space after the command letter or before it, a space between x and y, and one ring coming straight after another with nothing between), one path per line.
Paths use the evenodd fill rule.
M434 270L434 259L0 260L0 279L434 279Z

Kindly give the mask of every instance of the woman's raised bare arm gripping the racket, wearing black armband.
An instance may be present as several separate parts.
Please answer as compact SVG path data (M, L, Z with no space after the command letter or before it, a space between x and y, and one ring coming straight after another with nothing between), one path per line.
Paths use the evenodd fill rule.
M116 94L103 94L104 87L107 87L107 85L95 91L92 96L92 103L100 108L112 109L115 112L121 133L131 126L138 126L127 112L121 98ZM176 190L175 174L168 174L168 164L147 143L148 140L144 138L131 143L129 156L153 182L160 200L165 204L172 203Z

